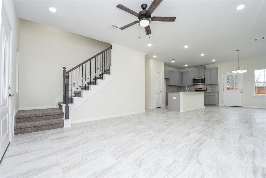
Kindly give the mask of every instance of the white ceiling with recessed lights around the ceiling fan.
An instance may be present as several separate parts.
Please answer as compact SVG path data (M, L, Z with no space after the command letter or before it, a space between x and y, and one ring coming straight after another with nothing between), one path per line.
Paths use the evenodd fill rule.
M15 1L17 16L46 24L108 43L116 43L144 51L148 58L175 68L206 65L237 59L266 55L266 40L254 42L254 38L266 36L265 0L164 0L152 16L176 17L174 23L151 22L152 34L146 36L138 24L125 30L110 31L111 24L124 26L137 17L116 8L123 4L139 12L143 3L152 0L68 0L68 1ZM235 8L245 4L242 10ZM52 13L49 6L56 7ZM147 44L152 46L148 47ZM184 48L184 45L189 45ZM204 53L204 56L200 54ZM169 59L175 59L171 63Z

